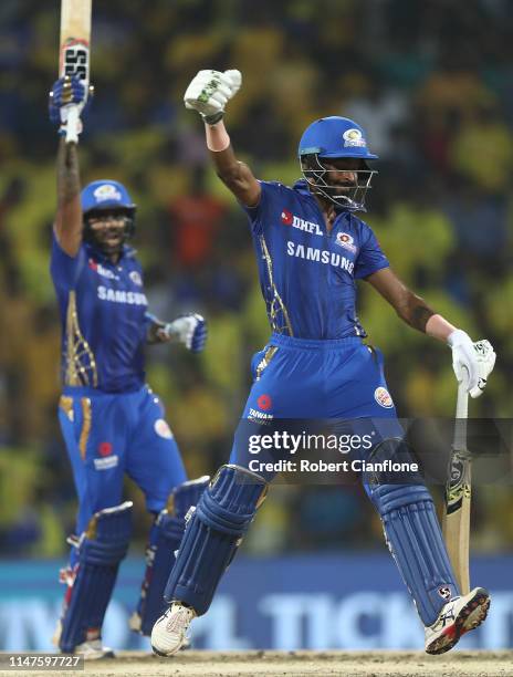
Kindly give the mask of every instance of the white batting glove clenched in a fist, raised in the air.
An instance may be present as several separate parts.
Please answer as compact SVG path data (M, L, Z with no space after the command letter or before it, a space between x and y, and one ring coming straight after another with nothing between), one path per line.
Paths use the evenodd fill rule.
M209 125L219 122L224 106L240 90L240 71L199 71L184 95L186 108L198 111Z

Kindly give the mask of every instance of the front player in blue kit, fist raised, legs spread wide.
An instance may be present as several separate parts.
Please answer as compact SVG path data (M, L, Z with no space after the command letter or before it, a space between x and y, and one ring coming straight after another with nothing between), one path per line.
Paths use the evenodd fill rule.
M253 361L254 383L243 419L378 421L373 454L411 458L383 356L363 343L355 281L370 283L410 326L447 342L456 376L465 381L472 397L482 393L494 366L493 348L488 341L473 343L411 292L356 216L364 210L375 174L369 163L377 159L364 129L344 117L315 121L300 140L303 179L292 188L256 180L237 160L222 119L240 84L239 71L200 71L185 104L201 114L216 171L249 217L272 329L269 344ZM166 587L170 607L151 633L157 654L177 652L190 622L209 608L271 479L272 471L251 470L248 449L235 437L229 464L219 469L187 520ZM477 587L460 595L433 501L421 480L375 482L365 475L363 480L426 628L426 650L443 653L482 623L489 594Z

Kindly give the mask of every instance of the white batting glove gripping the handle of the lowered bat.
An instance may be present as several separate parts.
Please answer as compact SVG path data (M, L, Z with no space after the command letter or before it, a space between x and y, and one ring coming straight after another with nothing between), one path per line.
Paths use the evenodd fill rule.
M456 330L447 340L452 348L452 368L458 383L467 384L471 397L479 397L486 387L486 379L495 365L495 352L490 341L472 342L462 330Z

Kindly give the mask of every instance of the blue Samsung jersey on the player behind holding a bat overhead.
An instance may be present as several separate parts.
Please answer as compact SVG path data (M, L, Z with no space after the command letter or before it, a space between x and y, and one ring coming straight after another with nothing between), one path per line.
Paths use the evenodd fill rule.
M64 385L105 393L140 388L149 320L134 250L124 247L113 264L86 243L70 257L53 236L51 274L61 311Z

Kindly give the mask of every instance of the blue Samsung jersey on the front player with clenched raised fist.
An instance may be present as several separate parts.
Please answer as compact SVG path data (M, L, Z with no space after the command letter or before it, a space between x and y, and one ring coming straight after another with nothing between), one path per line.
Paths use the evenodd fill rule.
M355 280L389 265L374 232L339 210L327 233L304 180L294 188L260 184L259 205L244 209L272 330L299 338L365 336Z

